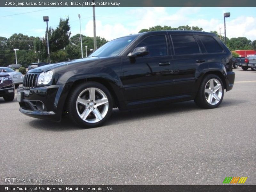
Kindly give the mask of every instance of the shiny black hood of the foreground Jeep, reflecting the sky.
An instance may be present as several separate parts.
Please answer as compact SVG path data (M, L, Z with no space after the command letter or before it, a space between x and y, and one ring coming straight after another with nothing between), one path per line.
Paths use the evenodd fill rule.
M84 59L77 59L77 60L70 60L70 61L64 61L64 62L60 62L60 63L53 63L53 64L48 64L48 65L44 65L41 67L37 67L34 69L30 69L28 71L28 73L40 73L40 72L46 72L49 70L54 70L54 71L58 71L61 70L62 68L67 68L67 66L69 68L76 68L77 65L86 65L87 67L91 67L93 66L93 64L95 62L99 62L100 60L106 60L108 58L112 58L112 57L87 57Z

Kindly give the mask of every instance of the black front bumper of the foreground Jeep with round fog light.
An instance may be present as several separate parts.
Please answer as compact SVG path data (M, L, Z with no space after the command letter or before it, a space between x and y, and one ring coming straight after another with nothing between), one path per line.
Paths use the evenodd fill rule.
M67 97L66 85L17 90L20 112L31 117L60 121Z

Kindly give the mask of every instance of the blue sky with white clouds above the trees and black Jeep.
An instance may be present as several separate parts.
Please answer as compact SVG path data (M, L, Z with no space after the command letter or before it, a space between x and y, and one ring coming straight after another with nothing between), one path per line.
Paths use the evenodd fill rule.
M228 38L244 36L256 40L256 7L96 7L96 35L112 40L156 25L189 25L206 32L221 31L224 36L225 12L230 12L230 18L226 18ZM48 25L52 28L58 26L60 18L69 17L73 36L80 34L78 14L82 34L92 37L92 7L0 7L0 36L22 33L43 37L43 16L49 16Z

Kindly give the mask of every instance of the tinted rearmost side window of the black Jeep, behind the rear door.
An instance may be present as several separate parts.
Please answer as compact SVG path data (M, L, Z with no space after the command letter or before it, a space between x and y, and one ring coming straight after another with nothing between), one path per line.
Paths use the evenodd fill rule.
M224 50L212 36L199 35L204 47L208 53L222 53Z

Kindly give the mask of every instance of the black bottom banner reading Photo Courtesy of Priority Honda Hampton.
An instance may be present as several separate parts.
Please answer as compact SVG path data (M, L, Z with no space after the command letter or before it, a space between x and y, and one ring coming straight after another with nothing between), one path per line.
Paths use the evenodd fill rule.
M1 192L254 192L256 186L248 185L175 185L175 186L142 186L142 185L97 185L97 186L48 186L48 185L2 185Z

